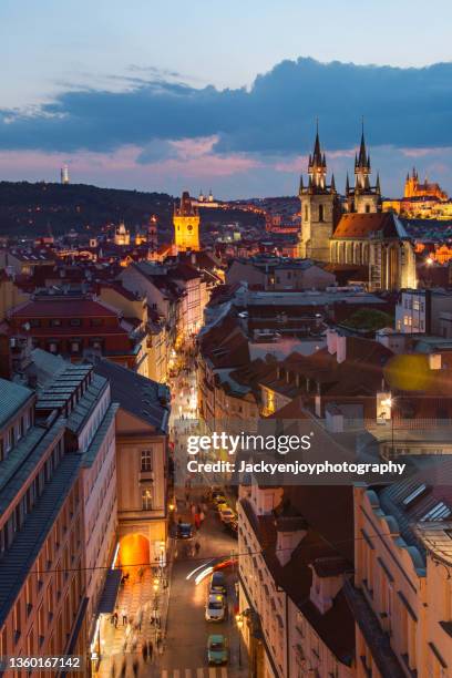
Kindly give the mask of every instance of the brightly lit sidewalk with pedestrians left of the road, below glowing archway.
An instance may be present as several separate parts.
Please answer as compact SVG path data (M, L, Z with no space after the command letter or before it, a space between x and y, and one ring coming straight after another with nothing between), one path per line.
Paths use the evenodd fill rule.
M170 549L171 551L171 549ZM168 553L168 556L171 554ZM171 558L168 558L168 571L166 575L168 584L171 582ZM99 671L95 674L99 678L111 678L113 675L119 677L121 668L125 665L125 676L133 676L132 665L138 661L138 676L150 676L155 671L158 662L157 637L162 638L160 651L164 651L165 646L165 627L168 609L170 586L163 588L160 585L158 590L158 613L160 628L151 623L152 613L154 609L154 575L150 567L143 574L141 581L132 581L126 583L120 589L116 608L119 614L117 628L110 622L103 623L101 629L101 656L102 660ZM125 610L127 615L127 624L123 625L122 613ZM141 628L137 625L138 619L142 619ZM143 662L142 648L148 640L153 644L152 662L147 660ZM114 671L114 674L113 674Z

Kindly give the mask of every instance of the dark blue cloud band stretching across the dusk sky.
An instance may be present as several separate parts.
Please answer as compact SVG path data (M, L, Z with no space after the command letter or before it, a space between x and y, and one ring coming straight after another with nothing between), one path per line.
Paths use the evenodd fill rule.
M452 146L451 114L452 63L398 69L299 59L257 76L249 91L154 78L120 93L68 91L38 114L0 111L0 148L104 152L137 144L148 162L171 152L162 142L215 134L218 153L296 154L310 148L317 116L326 147L357 144L362 115L373 146Z

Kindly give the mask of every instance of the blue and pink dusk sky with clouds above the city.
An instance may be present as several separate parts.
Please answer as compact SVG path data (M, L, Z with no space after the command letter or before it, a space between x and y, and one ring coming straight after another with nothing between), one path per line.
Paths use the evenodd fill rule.
M318 116L343 191L364 116L386 195L413 164L452 192L452 3L431 10L2 0L0 179L294 194Z

